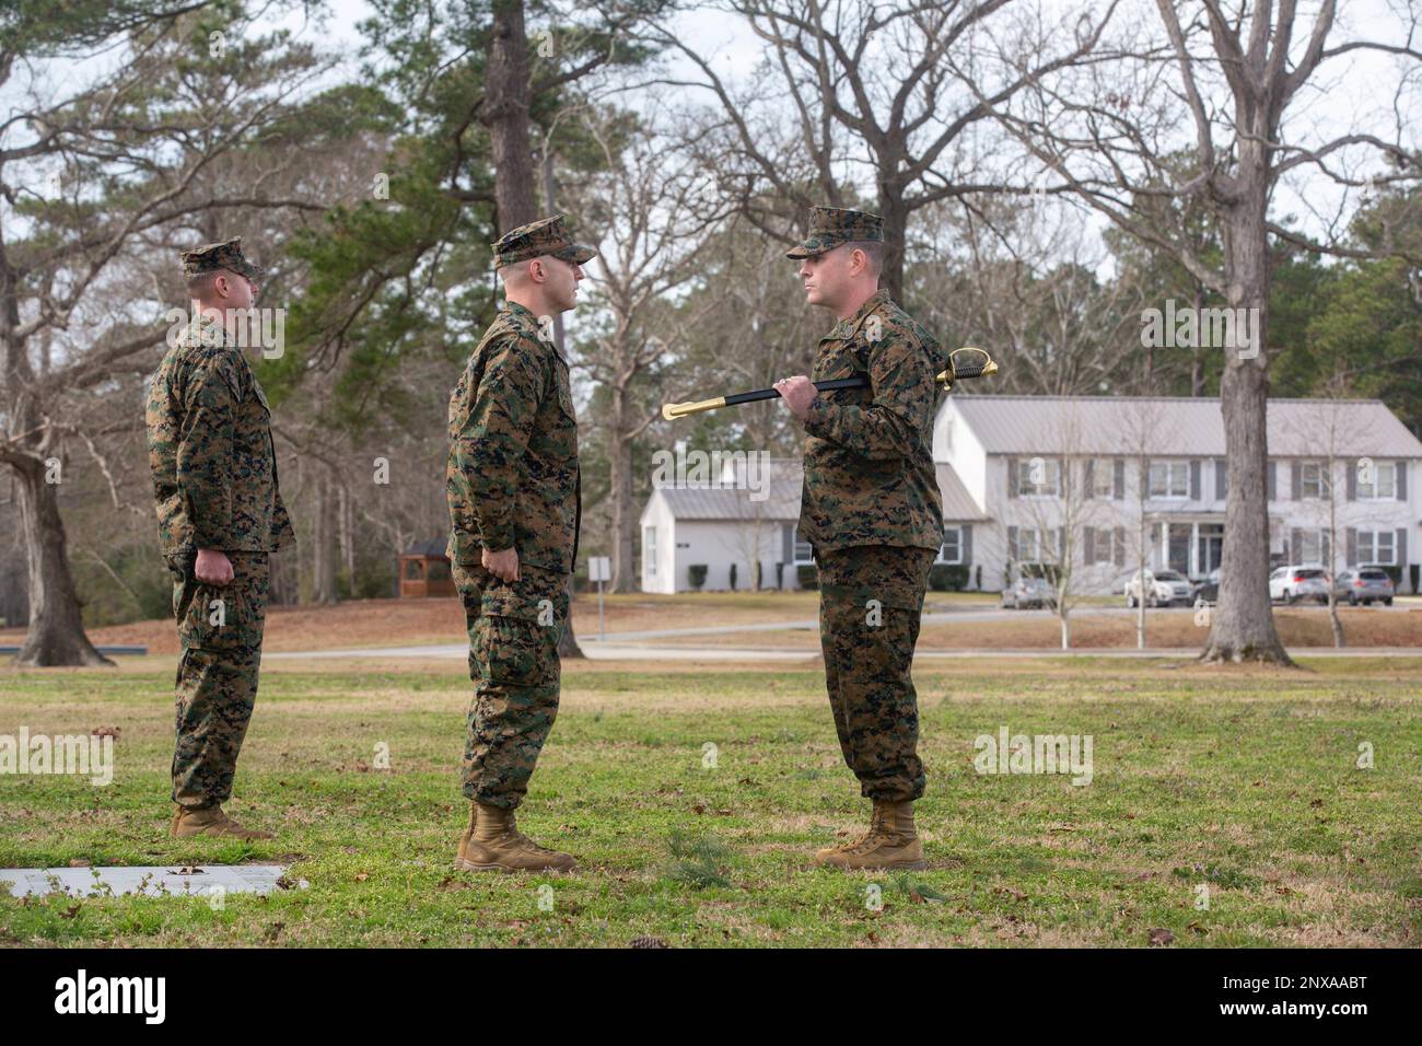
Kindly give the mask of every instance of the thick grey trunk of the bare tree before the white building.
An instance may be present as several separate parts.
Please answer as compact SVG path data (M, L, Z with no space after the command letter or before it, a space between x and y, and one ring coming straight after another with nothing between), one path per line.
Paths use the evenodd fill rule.
M1260 171L1249 174L1263 176ZM1230 487L1224 502L1220 602L1200 659L1291 666L1268 601L1268 243L1264 194L1249 195L1247 204L1230 212L1224 223L1226 272L1231 276L1229 307L1244 310L1251 339L1247 347L1224 350L1220 411Z

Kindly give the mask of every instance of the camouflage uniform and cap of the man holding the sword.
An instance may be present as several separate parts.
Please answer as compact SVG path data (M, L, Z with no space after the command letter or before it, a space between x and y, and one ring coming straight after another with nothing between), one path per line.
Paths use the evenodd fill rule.
M877 216L815 208L806 258L883 241ZM867 374L867 389L819 393L805 417L799 537L820 569L825 682L845 763L869 798L923 794L910 675L929 569L943 544L933 418L946 367L937 340L887 293L819 343L811 379Z

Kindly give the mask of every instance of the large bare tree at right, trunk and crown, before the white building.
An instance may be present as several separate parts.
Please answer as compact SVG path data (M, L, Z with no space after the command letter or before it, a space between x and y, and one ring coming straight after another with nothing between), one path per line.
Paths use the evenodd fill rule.
M1132 23L1121 44L1129 56L1109 70L1066 68L1034 83L1030 93L997 102L980 91L1003 125L1047 164L1069 189L1132 236L1173 258L1202 286L1220 295L1244 333L1226 342L1220 386L1230 494L1221 564L1220 603L1202 659L1291 663L1278 640L1268 602L1268 517L1266 504L1268 398L1270 236L1310 250L1361 256L1337 239L1313 241L1270 216L1270 204L1295 171L1341 186L1416 176L1405 145L1411 77L1394 95L1388 137L1348 131L1310 141L1317 121L1285 121L1305 85L1328 63L1358 53L1422 58L1413 46L1416 4L1391 40L1334 40L1335 0L1320 0L1311 26L1294 0L1240 3L1156 0L1155 37ZM1130 40L1129 37L1136 37ZM1376 124L1378 114L1368 115ZM1172 149L1185 125L1193 135L1192 164ZM1365 179L1358 165L1392 165ZM1196 249L1192 231L1172 226L1160 201L1199 201L1221 236L1219 260ZM1305 201L1307 202L1307 201ZM1337 228L1324 222L1324 228Z

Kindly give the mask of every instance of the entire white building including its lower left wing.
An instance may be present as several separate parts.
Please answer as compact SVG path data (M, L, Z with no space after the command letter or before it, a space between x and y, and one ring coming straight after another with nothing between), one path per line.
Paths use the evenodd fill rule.
M1121 591L1140 552L1204 578L1224 542L1224 426L1217 398L948 396L933 430L943 495L939 562L998 591L1022 564L1072 564L1074 589ZM1422 561L1422 443L1375 400L1271 400L1268 525L1274 562L1398 568ZM1330 481L1331 474L1331 481ZM729 480L731 477L725 477ZM657 488L641 515L644 592L793 588L801 463L775 460L769 497L734 482ZM1337 549L1334 549L1337 544ZM700 571L698 571L700 574Z

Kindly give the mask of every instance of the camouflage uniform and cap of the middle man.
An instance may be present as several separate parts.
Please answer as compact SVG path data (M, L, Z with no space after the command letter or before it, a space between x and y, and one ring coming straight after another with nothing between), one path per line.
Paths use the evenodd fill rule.
M560 218L505 235L501 268L542 255L582 265ZM509 302L485 332L449 398L449 561L469 630L474 702L464 794L515 808L557 716L557 640L582 518L577 417L567 363L539 319ZM519 581L481 565L483 549L519 555Z

